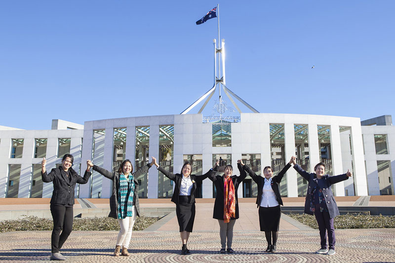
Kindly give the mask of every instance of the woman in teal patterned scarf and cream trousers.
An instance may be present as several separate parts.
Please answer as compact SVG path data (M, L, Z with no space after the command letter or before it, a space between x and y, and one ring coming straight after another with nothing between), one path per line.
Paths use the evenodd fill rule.
M88 165L93 167L94 171L113 181L113 193L110 197L110 214L108 217L117 219L120 226L117 244L114 250L115 257L118 257L119 254L130 256L127 249L132 238L136 216L140 216L139 184L137 178L147 172L155 161L155 157L152 157L151 163L144 165L132 173L132 163L126 159L119 165L118 170L113 173L94 165L91 160L88 160ZM122 246L122 253L120 253L120 246Z

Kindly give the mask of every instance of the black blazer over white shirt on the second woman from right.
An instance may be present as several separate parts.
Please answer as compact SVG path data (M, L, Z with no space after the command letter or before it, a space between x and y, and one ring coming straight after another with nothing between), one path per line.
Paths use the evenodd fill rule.
M291 167L291 165L289 163L287 163L287 165L285 165L285 167L282 168L282 170L278 173L278 175L272 177L272 189L275 192L277 202L280 205L283 205L283 203L282 203L281 194L280 194L280 190L279 190L278 186L279 186L285 172L290 167ZM265 177L256 175L253 171L251 171L251 169L246 164L244 164L243 168L251 176L252 180L254 180L254 182L258 185L257 186L258 187L258 196L256 197L256 205L257 205L256 207L259 207L259 205L261 204L263 186L265 184Z

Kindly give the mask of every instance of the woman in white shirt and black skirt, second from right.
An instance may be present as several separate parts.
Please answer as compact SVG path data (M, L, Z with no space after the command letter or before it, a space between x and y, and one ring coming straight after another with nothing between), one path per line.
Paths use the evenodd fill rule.
M278 227L280 225L281 218L280 205L283 205L279 185L284 174L291 167L292 158L275 177L272 177L273 168L271 166L266 166L263 169L263 174L265 177L262 177L251 171L251 169L241 160L240 163L243 166L243 169L257 184L258 195L256 197L256 204L259 208L259 226L261 231L265 231L266 241L268 241L268 248L265 250L265 252L276 252Z

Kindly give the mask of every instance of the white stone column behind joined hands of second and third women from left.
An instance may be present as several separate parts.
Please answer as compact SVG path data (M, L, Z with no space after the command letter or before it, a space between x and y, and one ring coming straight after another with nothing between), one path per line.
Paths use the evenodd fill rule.
M151 156L159 156L159 125L150 125L150 161ZM158 198L158 170L148 172L148 198Z

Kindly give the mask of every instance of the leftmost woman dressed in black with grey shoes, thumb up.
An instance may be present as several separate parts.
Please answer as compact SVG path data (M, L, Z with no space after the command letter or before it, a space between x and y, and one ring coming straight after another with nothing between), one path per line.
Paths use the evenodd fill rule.
M66 260L59 253L66 239L73 230L73 205L74 188L76 184L86 184L91 175L90 167L85 170L83 178L72 168L74 157L65 154L62 158L62 166L53 168L49 174L46 172L46 160L41 161L41 179L44 183L52 182L53 192L51 198L51 214L53 230L51 235L51 260ZM62 231L62 233L60 233Z

